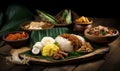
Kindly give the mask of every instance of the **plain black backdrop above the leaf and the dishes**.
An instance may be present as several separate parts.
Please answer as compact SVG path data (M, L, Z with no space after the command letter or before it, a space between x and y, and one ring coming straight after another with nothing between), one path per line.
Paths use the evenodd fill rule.
M19 4L28 7L33 13L35 9L44 10L50 14L56 14L63 9L72 9L80 16L100 18L120 18L119 2L102 0L2 0L0 9L3 11L11 4Z

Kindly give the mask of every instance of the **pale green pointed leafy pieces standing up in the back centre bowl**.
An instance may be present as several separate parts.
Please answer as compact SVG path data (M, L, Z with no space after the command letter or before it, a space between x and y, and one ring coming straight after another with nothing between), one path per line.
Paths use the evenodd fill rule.
M60 14L53 16L44 11L36 10L41 20L49 21L52 24L71 24L72 23L72 15L71 10L65 9Z

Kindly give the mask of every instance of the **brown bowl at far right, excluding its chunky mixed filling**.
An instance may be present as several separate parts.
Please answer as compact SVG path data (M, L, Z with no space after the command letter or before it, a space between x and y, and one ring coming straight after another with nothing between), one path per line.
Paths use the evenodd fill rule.
M89 34L89 29L86 29L84 32L85 37L94 43L97 44L109 44L111 42L113 42L116 38L119 37L119 31L115 28L111 28L114 29L114 34L110 35L110 36L96 36L96 35L91 35Z

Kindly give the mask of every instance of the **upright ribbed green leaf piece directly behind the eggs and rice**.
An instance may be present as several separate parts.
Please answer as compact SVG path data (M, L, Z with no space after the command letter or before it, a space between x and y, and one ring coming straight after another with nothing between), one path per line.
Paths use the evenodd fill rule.
M37 31L32 31L31 33L31 39L30 39L30 47L38 42L41 41L41 39L45 36L53 37L55 38L56 36L62 34L62 33L69 33L70 30L68 28L51 28L47 30L37 30Z

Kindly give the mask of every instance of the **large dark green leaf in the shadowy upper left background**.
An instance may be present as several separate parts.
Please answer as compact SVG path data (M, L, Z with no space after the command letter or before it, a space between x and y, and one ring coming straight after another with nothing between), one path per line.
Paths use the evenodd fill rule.
M34 19L33 13L24 6L10 5L5 12L6 22L0 29L0 37L12 31L21 30L20 24Z

